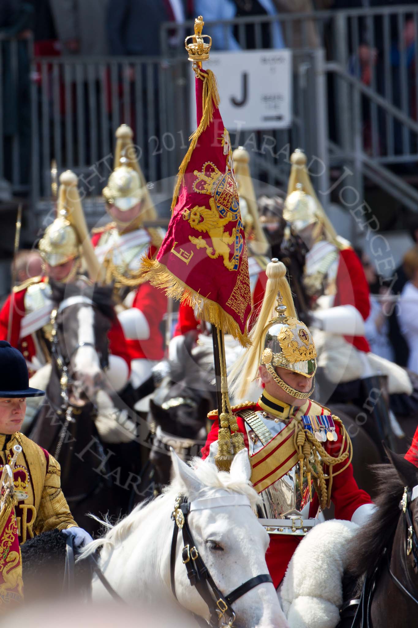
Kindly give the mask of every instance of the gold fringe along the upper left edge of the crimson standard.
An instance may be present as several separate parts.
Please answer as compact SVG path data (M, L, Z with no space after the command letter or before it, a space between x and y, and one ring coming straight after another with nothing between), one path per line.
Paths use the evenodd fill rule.
M177 173L177 182L175 183L174 188L173 200L171 203L172 210L175 207L175 203L177 203L177 198L179 197L180 192L180 185L184 183L185 169L189 165L189 161L192 158L193 151L197 146L197 141L199 140L201 134L206 131L209 124L211 124L214 111L217 107L219 107L219 92L217 90L216 77L212 70L206 70L206 72L201 72L201 70L199 70L199 68L197 67L194 67L194 70L196 72L196 76L203 81L203 114L199 126L189 138L191 140L189 150L185 154L182 163L180 163L179 172Z

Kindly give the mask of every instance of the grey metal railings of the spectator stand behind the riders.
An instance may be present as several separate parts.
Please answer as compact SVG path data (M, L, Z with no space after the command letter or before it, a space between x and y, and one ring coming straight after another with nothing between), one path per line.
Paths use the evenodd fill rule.
M254 179L272 192L285 186L286 156L301 146L327 168L352 163L360 190L370 178L415 208L415 189L388 168L418 160L418 85L411 70L418 67L416 4L207 21L205 31L218 27L225 41L232 33L241 48L259 48L273 40L274 24L280 25L285 45L293 48L293 122L283 131L231 133L233 146L246 144L249 149ZM176 26L163 24L159 58L32 57L31 43L23 44L31 58L32 82L27 102L21 99L19 106L31 108L30 159L25 161L28 143L21 129L1 127L7 100L3 73L0 177L12 182L15 193L31 189L39 218L49 207L52 158L60 171L71 168L79 175L90 224L103 214L100 193L112 168L114 133L121 122L133 127L140 163L161 200L162 215L168 215L172 178L190 129L191 71L181 42L192 26L177 26L179 43L173 48ZM11 41L9 46L11 95L16 100L22 76L28 87L29 69L21 72L19 66L21 43ZM379 50L376 62L365 61L365 50L374 48ZM24 178L28 161L30 181ZM328 189L327 177L314 177L318 188Z

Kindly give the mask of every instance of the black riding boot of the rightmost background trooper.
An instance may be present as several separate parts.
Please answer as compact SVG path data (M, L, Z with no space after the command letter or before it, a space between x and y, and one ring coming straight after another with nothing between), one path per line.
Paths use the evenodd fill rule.
M374 427L379 437L379 442L377 442L376 445L385 458L382 442L394 451L395 436L392 431L392 426L390 425L389 406L386 402L384 392L384 380L381 376L374 375L372 377L366 377L360 382L362 399L359 405L363 413L368 414L374 422Z

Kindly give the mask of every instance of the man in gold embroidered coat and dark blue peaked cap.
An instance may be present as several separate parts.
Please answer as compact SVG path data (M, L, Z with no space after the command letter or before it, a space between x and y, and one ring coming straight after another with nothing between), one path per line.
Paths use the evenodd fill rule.
M29 387L28 367L23 355L6 340L0 340L0 472L16 453L13 479L18 501L19 542L58 529L71 534L78 546L92 539L85 530L78 528L71 516L61 490L60 465L50 453L19 431L26 398L43 394L43 391Z

